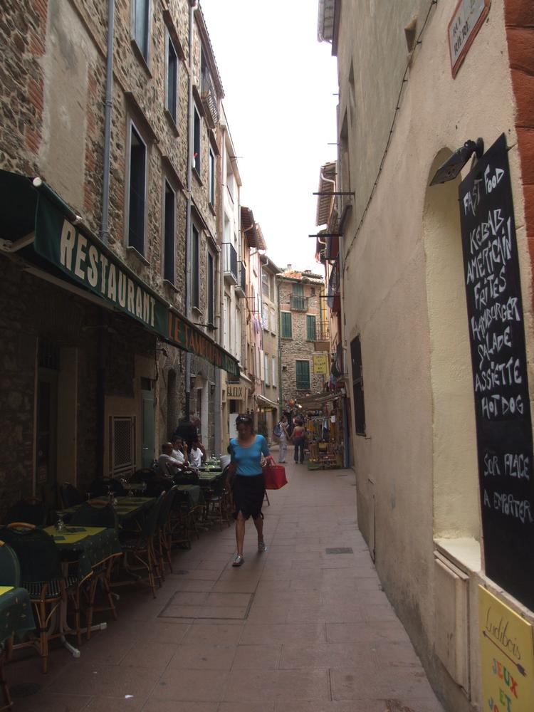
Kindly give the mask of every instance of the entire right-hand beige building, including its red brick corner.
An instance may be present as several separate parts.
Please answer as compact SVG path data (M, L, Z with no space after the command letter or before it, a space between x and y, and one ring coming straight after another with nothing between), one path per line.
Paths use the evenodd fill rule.
M484 602L534 622L532 582L521 580L534 555L533 521L498 506L506 492L534 507L530 473L522 482L506 476L501 459L518 451L507 429L531 448L532 423L518 412L493 422L477 383L478 369L513 354L523 402L532 402L534 10L523 0L360 5L325 0L319 12L340 91L342 195L332 231L340 234L357 518L444 708L471 712L488 708L483 676L500 654L495 646L483 654ZM483 150L467 152L478 137ZM469 210L473 220L491 219L489 201L501 199L493 161L515 222L517 273L510 277L507 261L501 275L523 304L502 326L524 336L489 357L476 349L466 268L476 245L466 248L466 221ZM446 162L456 170L440 171ZM471 181L481 191L464 202ZM483 314L500 306L495 291L478 304ZM488 339L500 330L492 323ZM491 471L483 465L490 452L501 463ZM494 704L506 708L502 696Z

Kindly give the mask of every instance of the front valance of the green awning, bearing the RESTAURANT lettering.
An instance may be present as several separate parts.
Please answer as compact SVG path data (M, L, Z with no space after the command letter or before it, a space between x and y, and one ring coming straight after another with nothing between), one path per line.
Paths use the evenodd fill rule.
M233 357L156 298L140 279L123 268L120 260L42 199L37 211L34 248L73 281L167 342L239 377L239 364Z

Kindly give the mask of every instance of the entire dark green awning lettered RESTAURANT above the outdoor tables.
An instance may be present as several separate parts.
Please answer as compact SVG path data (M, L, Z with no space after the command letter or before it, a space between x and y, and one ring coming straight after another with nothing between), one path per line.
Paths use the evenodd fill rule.
M41 179L0 170L0 243L122 312L164 341L239 378L239 362L143 282Z

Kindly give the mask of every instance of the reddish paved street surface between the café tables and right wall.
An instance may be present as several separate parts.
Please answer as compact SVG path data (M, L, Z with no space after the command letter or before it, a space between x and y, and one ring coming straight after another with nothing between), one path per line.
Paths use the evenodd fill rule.
M352 471L287 468L267 553L248 523L233 569L233 528L201 534L80 659L9 665L17 712L442 712L357 530Z

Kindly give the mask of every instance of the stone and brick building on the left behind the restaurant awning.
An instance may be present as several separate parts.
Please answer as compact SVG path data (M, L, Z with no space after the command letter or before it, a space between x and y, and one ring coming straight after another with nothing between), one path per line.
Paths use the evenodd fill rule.
M213 449L220 379L214 364L236 365L226 361L216 325L208 323L209 298L219 303L223 90L204 17L186 0L115 3L106 210L108 6L104 0L39 0L2 9L4 509L31 494L56 506L62 481L84 491L95 476L150 464L187 409L199 416L206 447ZM32 184L20 174L39 180ZM36 256L43 228L31 233L24 201L32 210L41 209L38 204L61 214L63 238L78 244L75 274L66 276L50 256ZM58 247L58 254L63 259L66 252ZM102 294L88 284L96 280L90 261L96 254ZM132 301L128 293L120 313L117 298L122 285L126 304L127 284ZM143 298L153 305L152 324L143 318Z

